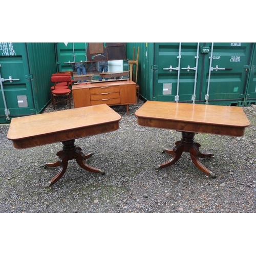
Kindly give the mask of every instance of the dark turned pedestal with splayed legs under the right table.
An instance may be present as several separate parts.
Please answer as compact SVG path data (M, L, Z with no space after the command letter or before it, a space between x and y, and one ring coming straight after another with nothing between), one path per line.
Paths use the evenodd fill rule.
M181 132L182 133L182 139L180 141L177 141L175 144L173 150L163 150L163 153L168 153L170 155L173 155L172 158L170 158L165 163L159 164L157 167L157 171L161 168L167 167L169 165L172 165L176 163L180 157L182 152L189 152L190 157L193 161L193 163L197 166L197 168L205 173L206 175L215 178L216 175L212 173L209 169L207 169L200 161L199 158L207 158L212 157L214 154L203 154L199 151L199 147L201 146L199 143L194 141L195 133L188 133L188 132Z

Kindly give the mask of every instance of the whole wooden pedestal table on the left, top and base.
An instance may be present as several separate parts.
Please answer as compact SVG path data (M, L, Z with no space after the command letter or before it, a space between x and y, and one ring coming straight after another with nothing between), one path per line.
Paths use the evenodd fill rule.
M15 148L62 142L62 151L57 153L58 161L46 164L59 166L57 174L47 184L50 187L63 176L72 159L89 172L105 174L86 163L93 153L84 155L75 145L75 139L115 131L120 119L121 116L106 104L17 117L11 120L7 138L12 140Z

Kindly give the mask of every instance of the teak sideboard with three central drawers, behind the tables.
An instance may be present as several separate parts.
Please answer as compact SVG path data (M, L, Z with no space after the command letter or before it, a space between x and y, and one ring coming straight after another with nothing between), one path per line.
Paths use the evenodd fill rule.
M137 103L136 83L131 80L85 82L72 87L75 108L98 104L129 105Z

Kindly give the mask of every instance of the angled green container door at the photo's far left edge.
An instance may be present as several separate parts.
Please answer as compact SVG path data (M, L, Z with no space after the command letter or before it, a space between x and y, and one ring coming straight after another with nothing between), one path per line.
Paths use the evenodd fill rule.
M31 115L35 108L25 43L0 42L0 123Z

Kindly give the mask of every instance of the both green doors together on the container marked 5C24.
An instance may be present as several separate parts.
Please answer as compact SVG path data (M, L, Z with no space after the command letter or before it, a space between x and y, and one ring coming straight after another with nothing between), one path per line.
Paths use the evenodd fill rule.
M155 43L153 100L243 105L254 43Z

